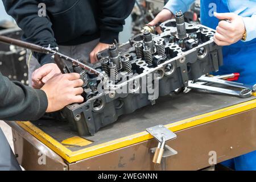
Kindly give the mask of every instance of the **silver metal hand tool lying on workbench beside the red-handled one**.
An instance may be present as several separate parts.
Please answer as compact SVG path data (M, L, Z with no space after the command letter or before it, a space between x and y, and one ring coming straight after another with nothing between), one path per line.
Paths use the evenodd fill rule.
M240 88L242 90L232 90L232 89L220 88L217 86L205 85L208 83L224 85L224 86L231 86L233 88ZM249 85L245 85L245 84L241 84L241 83L237 83L237 82L221 80L221 79L214 78L214 77L202 76L195 81L189 81L188 88L202 89L202 90L207 90L207 91L215 92L215 93L223 93L223 94L229 94L229 95L237 96L237 97L241 97L241 98L248 98L248 97L251 97L252 92L255 92L256 85L249 86Z

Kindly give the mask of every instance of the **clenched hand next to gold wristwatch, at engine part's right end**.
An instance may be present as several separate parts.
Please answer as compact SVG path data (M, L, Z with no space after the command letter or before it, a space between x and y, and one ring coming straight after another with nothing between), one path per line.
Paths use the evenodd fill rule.
M243 38L245 24L241 16L234 13L214 13L214 16L229 20L229 22L222 20L218 23L217 32L213 38L218 46L229 46Z

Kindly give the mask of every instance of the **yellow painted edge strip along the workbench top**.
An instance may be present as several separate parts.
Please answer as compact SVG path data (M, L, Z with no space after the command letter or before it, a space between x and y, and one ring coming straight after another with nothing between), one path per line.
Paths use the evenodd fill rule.
M171 124L166 125L171 131L180 131L189 127L201 125L216 119L224 118L229 115L241 113L246 110L254 109L256 107L256 99L243 102L241 104L225 107L224 109L212 111L210 113L197 115L196 117L183 119ZM33 125L31 122L17 122L24 130L32 134L35 138L39 139L42 143L46 144L47 147L55 151L63 159L69 163L77 162L82 159L87 159L92 156L104 154L105 152L117 150L118 148L130 146L131 144L143 142L148 139L152 139L152 136L146 131L112 140L110 142L98 144L78 151L71 151L67 147L63 146L60 142L53 139L48 134L44 133L38 127Z

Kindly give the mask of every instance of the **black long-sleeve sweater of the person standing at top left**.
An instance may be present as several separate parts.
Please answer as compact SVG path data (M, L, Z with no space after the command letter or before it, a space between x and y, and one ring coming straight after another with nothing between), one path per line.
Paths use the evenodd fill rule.
M7 13L24 31L23 40L45 47L75 46L97 38L101 43L112 44L118 40L135 3L135 0L2 1ZM46 16L38 15L43 7L39 3L46 5ZM42 65L53 63L50 55L34 55Z

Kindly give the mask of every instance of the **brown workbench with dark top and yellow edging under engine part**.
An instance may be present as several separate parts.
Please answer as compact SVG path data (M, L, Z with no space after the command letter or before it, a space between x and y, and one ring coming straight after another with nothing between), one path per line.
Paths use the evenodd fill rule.
M27 170L197 170L256 150L256 97L238 98L192 91L161 97L94 136L79 137L68 123L42 119L7 122L13 128L15 154ZM162 164L152 163L158 142L146 132L164 125L177 138L177 151Z

